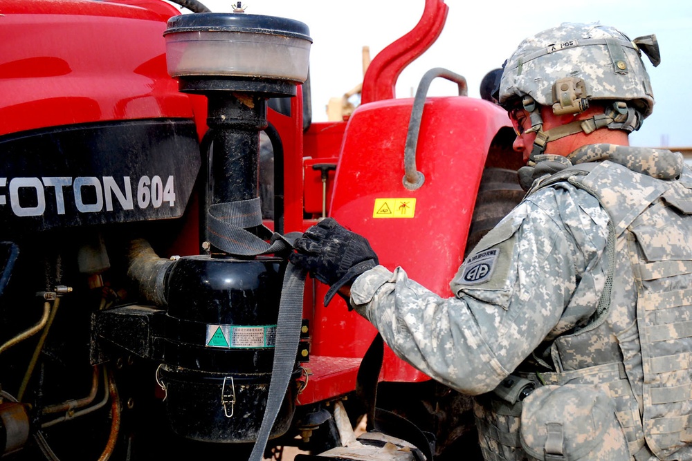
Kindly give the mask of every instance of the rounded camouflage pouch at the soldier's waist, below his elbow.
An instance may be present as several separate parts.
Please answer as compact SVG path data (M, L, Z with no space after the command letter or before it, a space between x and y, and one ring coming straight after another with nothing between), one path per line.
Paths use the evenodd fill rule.
M610 397L597 386L542 386L524 400L520 440L531 461L628 461Z

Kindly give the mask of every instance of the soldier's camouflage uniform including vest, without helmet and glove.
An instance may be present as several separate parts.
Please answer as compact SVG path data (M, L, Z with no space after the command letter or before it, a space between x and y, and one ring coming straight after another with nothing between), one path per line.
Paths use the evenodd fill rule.
M475 247L455 297L378 266L356 279L352 305L399 357L477 395L488 460L692 459L692 171L679 153L608 144L562 160ZM527 408L563 402L563 420L522 419L505 389L515 382L539 386ZM580 406L599 393L617 421Z

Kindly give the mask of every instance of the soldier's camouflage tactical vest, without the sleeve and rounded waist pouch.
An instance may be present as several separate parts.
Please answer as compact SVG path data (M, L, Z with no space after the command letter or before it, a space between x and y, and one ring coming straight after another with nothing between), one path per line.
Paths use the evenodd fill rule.
M601 386L633 460L692 460L692 173L661 180L611 161L578 164L529 194L563 181L610 216L608 281L588 326L554 340L555 370L523 378ZM486 460L527 459L514 402L477 398Z

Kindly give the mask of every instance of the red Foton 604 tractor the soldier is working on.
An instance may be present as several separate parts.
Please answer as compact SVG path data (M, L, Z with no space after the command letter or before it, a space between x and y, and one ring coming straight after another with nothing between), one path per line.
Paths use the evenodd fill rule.
M363 360L374 328L286 258L333 216L447 296L522 197L507 114L464 77L394 98L448 7L312 123L306 24L174 3L0 6L0 454L468 459L468 399L386 346ZM458 95L426 97L437 77Z

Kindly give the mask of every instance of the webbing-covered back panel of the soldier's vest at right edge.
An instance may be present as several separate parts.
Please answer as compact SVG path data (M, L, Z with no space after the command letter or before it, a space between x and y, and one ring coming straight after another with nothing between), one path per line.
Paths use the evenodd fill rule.
M632 223L636 238L628 241L637 279L644 433L659 458L692 440L692 226L689 216L665 206L675 192Z

